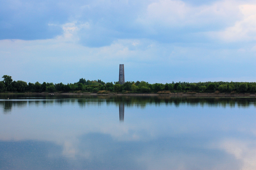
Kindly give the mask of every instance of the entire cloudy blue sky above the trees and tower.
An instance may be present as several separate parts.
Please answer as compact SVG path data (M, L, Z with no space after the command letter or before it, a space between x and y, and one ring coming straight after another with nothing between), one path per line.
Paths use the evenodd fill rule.
M256 79L255 0L0 1L0 32L15 81Z

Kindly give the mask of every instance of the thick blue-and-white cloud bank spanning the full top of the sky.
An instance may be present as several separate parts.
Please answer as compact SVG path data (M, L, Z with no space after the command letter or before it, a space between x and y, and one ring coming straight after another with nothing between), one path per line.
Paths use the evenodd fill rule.
M119 39L141 38L160 43L209 42L208 35L219 31L223 39L248 39L255 34L255 7L251 2L246 3L7 1L1 2L0 7L3 14L0 15L0 39L49 39L63 33L71 36L66 28L70 23L77 27L75 33L79 43L88 47L109 46Z

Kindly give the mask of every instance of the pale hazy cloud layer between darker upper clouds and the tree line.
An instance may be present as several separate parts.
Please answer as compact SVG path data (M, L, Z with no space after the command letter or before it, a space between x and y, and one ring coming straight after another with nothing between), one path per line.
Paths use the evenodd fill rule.
M118 80L114 75L119 64L124 63L126 81L254 81L253 75L248 75L255 70L255 51L250 50L253 46L226 49L211 43L188 46L149 39L119 39L109 46L86 47L79 44L78 24L65 27L67 32L55 39L1 40L3 75L32 83L66 84L77 82L81 77L114 82ZM27 74L28 69L33 71Z

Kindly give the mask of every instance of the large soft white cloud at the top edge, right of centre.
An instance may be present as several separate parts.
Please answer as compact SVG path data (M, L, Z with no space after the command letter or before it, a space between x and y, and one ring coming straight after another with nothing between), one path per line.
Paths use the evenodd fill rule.
M210 5L192 6L179 0L159 0L147 7L145 15L138 22L155 27L180 28L192 26L218 29L229 25L240 17L239 8L234 1L217 1Z

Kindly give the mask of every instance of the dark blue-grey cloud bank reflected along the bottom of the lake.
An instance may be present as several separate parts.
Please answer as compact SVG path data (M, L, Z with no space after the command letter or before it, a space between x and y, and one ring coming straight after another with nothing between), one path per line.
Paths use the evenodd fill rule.
M74 157L63 145L49 141L0 141L0 169L246 169L243 157L225 148L203 148L215 137L159 137L150 141L118 141L109 134L78 137ZM246 145L246 142L243 142ZM224 149L224 150L223 150ZM243 149L240 147L239 149ZM255 151L255 148L253 148ZM249 153L252 151L249 151ZM253 162L250 162L253 165ZM250 166L255 167L255 166Z

